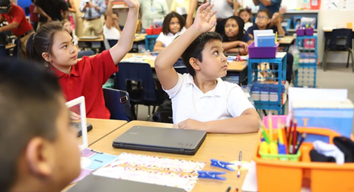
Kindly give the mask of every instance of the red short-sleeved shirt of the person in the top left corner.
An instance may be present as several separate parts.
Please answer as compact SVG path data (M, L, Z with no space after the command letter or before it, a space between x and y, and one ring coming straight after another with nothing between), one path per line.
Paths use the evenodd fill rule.
M1 14L1 16L5 17L8 23L17 22L19 24L17 28L12 29L12 33L16 36L21 36L33 29L26 19L23 9L18 5L12 4L11 10L6 14Z

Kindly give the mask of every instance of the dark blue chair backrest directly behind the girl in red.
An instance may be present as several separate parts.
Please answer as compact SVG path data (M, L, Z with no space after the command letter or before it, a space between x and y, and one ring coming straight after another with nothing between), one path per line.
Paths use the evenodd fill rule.
M133 120L130 111L129 93L126 91L110 88L102 88L106 107L111 113L111 119Z

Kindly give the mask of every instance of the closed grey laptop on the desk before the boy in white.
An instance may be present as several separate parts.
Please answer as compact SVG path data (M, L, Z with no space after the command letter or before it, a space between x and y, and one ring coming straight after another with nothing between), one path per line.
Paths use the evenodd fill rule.
M113 147L194 155L206 137L205 131L134 126L113 141Z

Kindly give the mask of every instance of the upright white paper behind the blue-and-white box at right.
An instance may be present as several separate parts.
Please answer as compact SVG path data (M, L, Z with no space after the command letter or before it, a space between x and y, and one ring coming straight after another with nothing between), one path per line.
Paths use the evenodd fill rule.
M323 100L323 101L345 101L348 99L348 89L318 89L289 87L289 113L292 109L294 99Z

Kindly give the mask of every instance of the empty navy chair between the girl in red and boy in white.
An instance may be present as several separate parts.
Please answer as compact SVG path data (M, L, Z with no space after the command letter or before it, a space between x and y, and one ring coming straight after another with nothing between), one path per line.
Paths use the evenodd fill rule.
M135 112L135 105L142 104L149 107L159 106L165 98L166 93L162 89L156 89L153 72L149 63L118 63L119 72L116 74L116 89L128 91L131 101L131 111L136 119L138 106Z

